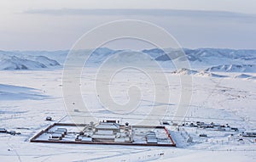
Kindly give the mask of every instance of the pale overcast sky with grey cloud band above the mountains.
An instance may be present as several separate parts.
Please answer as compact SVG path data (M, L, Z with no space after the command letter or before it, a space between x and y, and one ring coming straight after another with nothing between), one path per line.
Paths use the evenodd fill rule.
M0 50L69 49L84 32L123 19L160 25L182 47L256 48L255 6L254 0L3 0Z

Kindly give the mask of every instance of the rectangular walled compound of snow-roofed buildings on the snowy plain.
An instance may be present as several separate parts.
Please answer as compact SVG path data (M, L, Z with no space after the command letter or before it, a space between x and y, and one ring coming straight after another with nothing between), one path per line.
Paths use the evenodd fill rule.
M131 126L128 122L120 124L119 120L54 123L32 137L31 142L176 146L165 126Z

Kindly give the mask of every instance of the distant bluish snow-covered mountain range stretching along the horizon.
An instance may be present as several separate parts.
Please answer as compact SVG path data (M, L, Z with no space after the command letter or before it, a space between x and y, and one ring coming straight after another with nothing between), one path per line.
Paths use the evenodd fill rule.
M90 54L90 58L86 64L90 66L98 66L107 60L110 56L115 60L122 57L124 52L138 53L135 57L129 57L127 61L138 62L145 59L144 53L148 54L152 61L157 61L163 66L172 66L172 60L185 61L186 58L179 57L181 50L166 48L162 50L160 48L143 49L141 51L132 50L113 50L108 47L99 47ZM89 53L90 50L78 51L79 57L83 59L84 53ZM218 48L198 48L189 49L183 48L183 52L186 54L191 69L193 70L206 70L214 72L256 72L256 50L247 49L218 49ZM46 69L65 64L69 51L0 51L0 70L33 70L33 69ZM168 55L166 54L168 53ZM118 56L116 56L117 54ZM127 55L125 56L127 57ZM121 64L121 63L120 63ZM250 68L252 66L252 68ZM240 68L241 67L241 68ZM236 69L236 70L235 70Z

